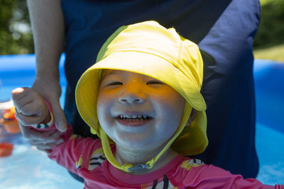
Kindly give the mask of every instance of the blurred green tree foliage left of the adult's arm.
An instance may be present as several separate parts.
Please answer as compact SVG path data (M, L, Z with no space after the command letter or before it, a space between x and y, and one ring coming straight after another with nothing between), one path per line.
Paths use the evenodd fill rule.
M0 55L33 53L25 0L0 0Z

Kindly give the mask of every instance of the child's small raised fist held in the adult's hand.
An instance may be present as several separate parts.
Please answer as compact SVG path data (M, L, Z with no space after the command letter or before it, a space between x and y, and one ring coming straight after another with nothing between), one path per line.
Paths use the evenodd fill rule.
M15 88L12 91L16 118L23 126L38 125L50 121L48 105L32 88Z

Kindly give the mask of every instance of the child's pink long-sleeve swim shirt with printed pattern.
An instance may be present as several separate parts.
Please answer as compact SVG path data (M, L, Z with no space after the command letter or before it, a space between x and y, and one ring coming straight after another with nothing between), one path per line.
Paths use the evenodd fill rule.
M133 176L112 166L104 156L100 139L81 138L68 129L65 142L48 155L61 166L84 178L84 188L283 188L263 185L254 178L244 179L198 159L182 154L152 173ZM115 145L111 146L115 153Z

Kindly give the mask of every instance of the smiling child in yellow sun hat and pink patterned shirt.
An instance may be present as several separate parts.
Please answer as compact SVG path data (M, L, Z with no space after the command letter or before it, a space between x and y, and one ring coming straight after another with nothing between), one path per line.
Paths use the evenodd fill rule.
M175 29L155 21L122 26L76 88L79 113L100 139L69 127L48 156L84 178L85 188L281 188L187 157L208 144L202 77L200 50ZM38 93L12 93L19 121L55 130Z

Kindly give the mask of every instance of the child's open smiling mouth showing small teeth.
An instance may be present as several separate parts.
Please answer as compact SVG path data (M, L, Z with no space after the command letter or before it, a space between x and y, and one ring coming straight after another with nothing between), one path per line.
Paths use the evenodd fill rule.
M121 114L116 117L117 122L121 125L136 127L142 126L150 122L153 118L148 115L128 115L128 114Z

